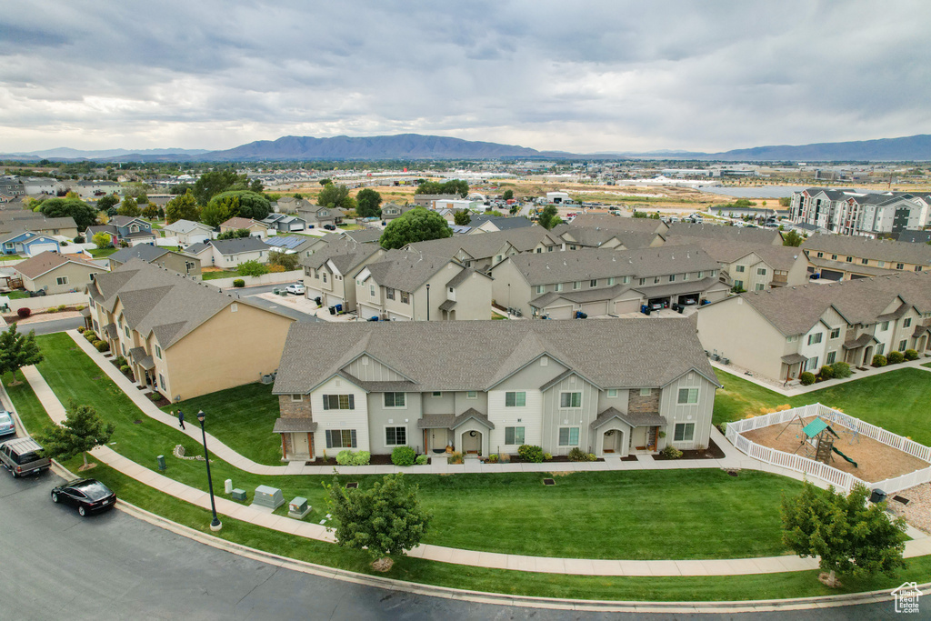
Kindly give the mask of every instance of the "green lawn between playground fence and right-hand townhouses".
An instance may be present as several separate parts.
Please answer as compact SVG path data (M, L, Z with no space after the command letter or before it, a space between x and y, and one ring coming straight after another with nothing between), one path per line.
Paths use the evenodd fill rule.
M855 382L823 388L799 397L786 398L736 375L715 371L724 385L714 401L714 423L734 421L760 408L788 403L792 407L822 403L837 408L893 433L931 445L931 373L899 369L872 375Z

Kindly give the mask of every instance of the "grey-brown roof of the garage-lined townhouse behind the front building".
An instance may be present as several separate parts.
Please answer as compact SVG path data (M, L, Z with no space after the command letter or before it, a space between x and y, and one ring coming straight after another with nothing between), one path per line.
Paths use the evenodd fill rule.
M508 257L507 261L513 263L532 286L593 278L643 278L719 269L717 261L695 246L518 254ZM498 263L492 267L492 276L504 264Z

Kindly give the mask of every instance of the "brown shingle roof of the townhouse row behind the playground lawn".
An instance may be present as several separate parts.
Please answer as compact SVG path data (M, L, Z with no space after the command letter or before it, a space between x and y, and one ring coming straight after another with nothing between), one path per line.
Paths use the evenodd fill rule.
M850 325L875 323L897 296L905 304L915 306L919 313L931 312L931 273L899 272L830 285L780 287L740 294L741 299L787 336L811 330L831 306ZM724 303L727 300L714 304Z

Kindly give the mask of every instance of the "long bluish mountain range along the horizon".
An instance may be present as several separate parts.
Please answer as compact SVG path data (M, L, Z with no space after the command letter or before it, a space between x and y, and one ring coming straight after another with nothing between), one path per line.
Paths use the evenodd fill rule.
M30 153L0 155L2 159L72 161L282 161L282 160L377 160L377 159L498 159L584 158L584 159L691 159L720 161L931 161L931 135L885 138L855 142L818 142L803 145L771 145L735 149L722 153L696 151L611 152L571 154L537 151L529 147L497 142L466 141L447 136L398 134L395 136L313 138L285 136L275 141L256 141L233 149L111 149L80 151L61 147Z

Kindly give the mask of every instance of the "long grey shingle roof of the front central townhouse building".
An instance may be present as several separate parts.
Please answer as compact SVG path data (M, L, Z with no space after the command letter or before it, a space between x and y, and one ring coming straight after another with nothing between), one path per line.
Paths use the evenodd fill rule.
M293 324L273 392L308 393L336 375L385 390L344 371L362 356L406 378L393 389L412 392L489 390L544 356L602 389L662 387L689 371L718 384L692 319L398 321Z

